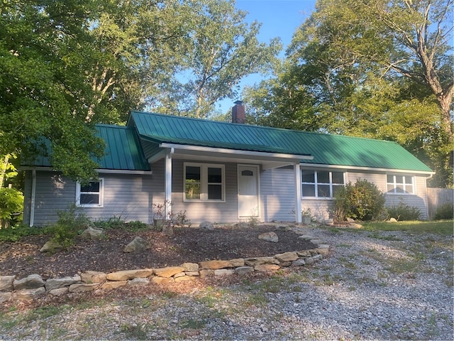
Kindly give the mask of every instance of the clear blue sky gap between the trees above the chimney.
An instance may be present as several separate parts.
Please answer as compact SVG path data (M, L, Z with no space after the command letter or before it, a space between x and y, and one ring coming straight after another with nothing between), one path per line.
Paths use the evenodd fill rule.
M315 3L315 0L236 0L236 8L248 12L246 21L262 23L258 36L260 41L269 43L272 38L279 37L285 50L292 41L294 31L314 11ZM259 81L260 76L252 75L241 82L241 87ZM227 112L235 100L221 101L216 109Z

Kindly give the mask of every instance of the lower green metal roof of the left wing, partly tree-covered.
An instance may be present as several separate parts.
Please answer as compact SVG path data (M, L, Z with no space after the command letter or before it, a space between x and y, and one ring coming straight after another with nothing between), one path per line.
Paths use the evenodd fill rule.
M106 142L104 157L95 160L99 163L99 169L150 171L150 165L145 160L135 129L126 126L97 124L96 136ZM48 155L51 155L50 141L46 140L44 143L48 149ZM25 163L26 166L52 166L50 158L44 156L35 156L33 161L25 161Z

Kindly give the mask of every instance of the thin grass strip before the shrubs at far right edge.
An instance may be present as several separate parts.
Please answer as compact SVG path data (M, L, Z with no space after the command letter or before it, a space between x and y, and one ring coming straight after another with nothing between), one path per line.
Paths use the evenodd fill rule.
M454 232L454 221L364 222L362 223L362 229L371 232L406 231L414 234L433 233L449 236Z

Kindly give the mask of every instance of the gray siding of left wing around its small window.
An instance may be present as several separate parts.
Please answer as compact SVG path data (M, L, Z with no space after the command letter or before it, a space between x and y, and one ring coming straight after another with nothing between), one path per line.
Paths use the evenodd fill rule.
M108 220L116 216L125 221L140 220L148 223L151 219L151 176L101 173L99 178L104 179L104 207L81 207L80 210L91 220ZM74 181L59 173L36 172L35 226L56 222L57 212L67 210L75 201ZM27 210L29 220L30 209Z

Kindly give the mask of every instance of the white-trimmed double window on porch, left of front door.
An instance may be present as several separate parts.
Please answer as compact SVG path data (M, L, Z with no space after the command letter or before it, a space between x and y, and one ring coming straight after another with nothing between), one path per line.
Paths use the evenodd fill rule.
M224 165L184 163L184 201L224 201Z

